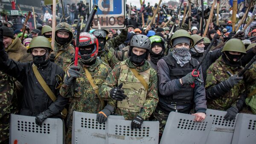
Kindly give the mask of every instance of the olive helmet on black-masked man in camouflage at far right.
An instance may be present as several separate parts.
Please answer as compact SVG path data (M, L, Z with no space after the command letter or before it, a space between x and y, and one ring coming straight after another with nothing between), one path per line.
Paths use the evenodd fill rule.
M227 41L221 52L223 51L236 51L246 54L244 43L239 39L230 39Z

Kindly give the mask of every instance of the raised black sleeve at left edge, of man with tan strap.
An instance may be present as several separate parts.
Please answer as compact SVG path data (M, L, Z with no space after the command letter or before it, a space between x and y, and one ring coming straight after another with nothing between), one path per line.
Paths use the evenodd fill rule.
M23 80L27 63L16 62L12 59L9 59L4 49L0 50L0 65L0 71L3 71L9 76L14 77L20 82Z

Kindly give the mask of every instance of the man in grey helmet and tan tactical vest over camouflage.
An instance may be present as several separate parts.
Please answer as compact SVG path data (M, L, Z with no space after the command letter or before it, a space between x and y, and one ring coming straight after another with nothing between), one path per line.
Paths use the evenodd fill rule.
M112 98L108 104L116 109L115 114L132 120L131 129L140 128L142 122L154 112L158 102L157 73L146 61L150 45L148 37L141 34L134 36L130 45L131 58L113 68L99 89L100 96ZM146 86L140 78L144 79Z

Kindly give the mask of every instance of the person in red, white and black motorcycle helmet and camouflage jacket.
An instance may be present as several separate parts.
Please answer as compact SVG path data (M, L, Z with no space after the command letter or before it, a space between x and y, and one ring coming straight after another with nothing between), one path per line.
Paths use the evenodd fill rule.
M66 136L66 142L68 144L71 144L73 111L98 113L104 107L104 104L102 104L99 99L99 93L97 93L97 91L93 88L93 85L90 84L86 70L92 76L93 83L97 87L105 82L108 73L111 71L111 68L106 63L102 62L101 59L96 57L98 53L96 37L90 33L81 33L80 38L83 37L92 37L91 41L93 43L89 45L82 42L79 43L79 55L81 56L81 59L78 61L78 66L74 66L74 63L72 63L67 68L67 73L64 76L64 84L60 89L60 94L63 97L70 98L70 107L67 117L68 130ZM90 40L88 41L90 42ZM88 54L90 56L84 57L84 55L81 55L84 53L84 51L86 51L85 53L91 52ZM91 55L93 56L91 57ZM72 80L73 82L70 82L70 78L72 79L74 71L76 72L77 78Z

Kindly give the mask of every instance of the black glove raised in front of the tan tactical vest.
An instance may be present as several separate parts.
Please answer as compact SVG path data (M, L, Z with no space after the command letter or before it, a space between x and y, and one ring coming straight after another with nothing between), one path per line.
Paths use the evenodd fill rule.
M110 96L112 99L115 99L117 101L122 101L123 99L125 99L127 96L124 94L125 91L121 89L122 88L122 83L115 88L112 88L110 90Z

